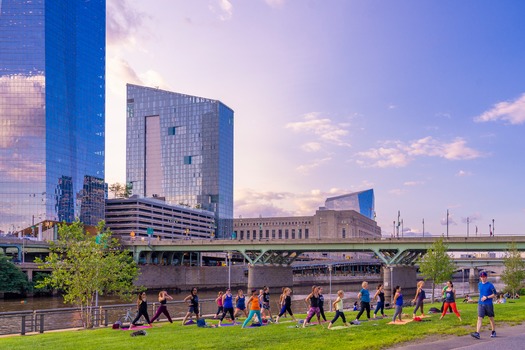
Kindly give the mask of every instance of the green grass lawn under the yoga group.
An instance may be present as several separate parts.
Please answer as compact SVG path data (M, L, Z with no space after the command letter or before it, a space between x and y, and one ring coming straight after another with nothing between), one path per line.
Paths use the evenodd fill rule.
M495 305L496 323L516 325L522 322L522 300ZM439 308L441 304L425 304L425 310L431 306ZM0 338L0 349L35 350L35 349L382 349L394 344L424 339L429 336L466 335L474 330L477 319L477 304L458 303L460 322L454 314L447 314L443 320L439 315L432 315L430 322L410 322L403 326L388 325L390 318L363 322L349 329L328 330L323 326L310 326L306 329L295 328L296 323L285 322L260 328L241 329L236 327L197 328L181 326L180 321L173 324L156 323L147 329L147 336L131 337L130 331L111 328L81 331L50 332L37 335L13 336ZM411 317L412 307L405 307L405 313ZM392 310L387 310L392 315ZM356 312L347 311L349 320ZM301 317L302 316L302 317ZM330 319L333 313L328 313ZM304 315L297 315L299 319ZM361 317L363 319L363 317ZM365 317L366 319L366 317ZM217 323L208 320L208 323ZM341 326L339 319L335 326ZM485 320L484 327L488 327ZM294 328L291 328L294 327Z

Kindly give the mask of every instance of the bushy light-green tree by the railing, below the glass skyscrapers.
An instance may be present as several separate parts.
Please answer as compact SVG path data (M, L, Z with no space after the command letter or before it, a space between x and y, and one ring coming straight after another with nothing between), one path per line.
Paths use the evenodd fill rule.
M87 233L78 220L59 225L58 240L50 243L49 256L45 261L37 261L40 268L51 268L52 272L36 287L49 286L63 291L64 302L80 308L85 328L93 327L97 293L131 300L135 290L133 282L138 277L132 256L120 249L104 225L104 221L98 224L96 236Z

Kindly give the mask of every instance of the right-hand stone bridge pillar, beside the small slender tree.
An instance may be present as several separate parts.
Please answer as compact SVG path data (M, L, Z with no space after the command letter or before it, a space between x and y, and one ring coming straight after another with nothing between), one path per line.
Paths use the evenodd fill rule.
M388 265L383 267L383 286L385 302L392 303L394 288L401 287L405 300L416 294L417 274L416 267L406 265Z

